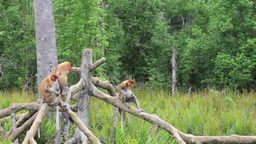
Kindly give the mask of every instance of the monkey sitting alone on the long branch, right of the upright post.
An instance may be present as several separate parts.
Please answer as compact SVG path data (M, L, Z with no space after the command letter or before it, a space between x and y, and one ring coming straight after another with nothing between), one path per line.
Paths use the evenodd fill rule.
M119 92L119 99L129 109L131 108L131 106L127 102L134 102L139 112L145 112L143 109L139 108L139 101L131 91L131 88L133 88L133 83L134 81L132 79L129 79L123 81L120 85L116 87L117 91Z

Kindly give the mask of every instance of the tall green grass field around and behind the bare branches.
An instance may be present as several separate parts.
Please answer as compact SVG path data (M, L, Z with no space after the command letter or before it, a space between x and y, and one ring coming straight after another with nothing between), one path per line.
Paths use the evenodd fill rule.
M135 89L133 92L138 97L142 109L158 115L184 133L196 136L256 135L256 99L253 92L237 94L227 91L221 96L214 91L206 92L206 94L197 92L192 96L177 93L175 98L160 89L155 91ZM12 103L32 101L36 101L36 95L31 92L0 92L1 109L5 109ZM135 104L131 105L135 106ZM24 112L26 111L19 112L19 114ZM90 113L90 130L99 139L110 142L112 106L92 97ZM117 123L117 144L176 143L172 135L161 128L151 139L149 134L153 125L136 116L130 114L128 116L131 125L124 121L124 133L120 132L120 120ZM4 123L2 121L0 126L4 128L0 133L0 141L3 144L11 144L8 139L3 138L3 135L11 127L11 122ZM75 128L76 126L72 125L70 137L74 135ZM35 140L42 144L52 143L55 138L54 134L55 117L50 116L45 118L41 126L40 140L37 139L37 136ZM23 138L24 134L20 136L19 141Z

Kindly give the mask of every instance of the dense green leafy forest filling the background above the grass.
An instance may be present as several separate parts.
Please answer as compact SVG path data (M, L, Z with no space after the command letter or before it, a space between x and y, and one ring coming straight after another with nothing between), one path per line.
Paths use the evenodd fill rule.
M53 0L58 61L106 57L94 76L170 88L256 88L253 0ZM37 88L32 0L0 0L0 88ZM71 83L77 75L70 76ZM69 83L70 85L70 83Z

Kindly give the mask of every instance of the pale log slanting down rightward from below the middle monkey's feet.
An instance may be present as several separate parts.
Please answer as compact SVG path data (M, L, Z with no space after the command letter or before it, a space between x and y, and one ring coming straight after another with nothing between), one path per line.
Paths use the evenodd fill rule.
M64 101L62 101L60 98L57 98L57 101L59 102L60 106L64 107ZM71 109L68 109L65 111L67 115L72 119L72 121L77 125L77 128L80 129L80 131L84 134L84 136L87 136L90 141L92 141L95 144L101 144L99 139L91 133L91 131L87 128L87 126L83 123L82 120L80 120L80 117L78 117L75 112L72 112ZM83 137L84 137L83 136ZM82 137L82 138L83 138ZM78 139L77 139L78 140ZM81 141L81 139L80 139Z

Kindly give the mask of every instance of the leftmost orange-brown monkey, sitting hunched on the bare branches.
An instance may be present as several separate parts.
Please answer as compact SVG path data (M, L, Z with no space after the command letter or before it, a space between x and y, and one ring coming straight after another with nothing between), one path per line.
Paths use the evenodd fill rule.
M40 95L42 100L46 103L55 101L56 96L59 95L59 88L53 88L53 83L56 82L58 76L51 74L45 77L43 82L40 84Z

